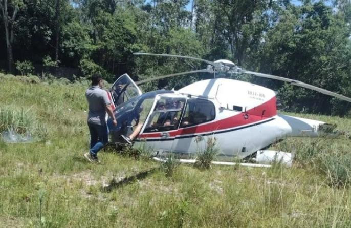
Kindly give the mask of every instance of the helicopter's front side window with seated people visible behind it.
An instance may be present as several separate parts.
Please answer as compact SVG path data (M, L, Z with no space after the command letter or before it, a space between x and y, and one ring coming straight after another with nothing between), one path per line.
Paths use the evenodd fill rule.
M144 132L170 131L178 128L185 99L161 98L149 117Z

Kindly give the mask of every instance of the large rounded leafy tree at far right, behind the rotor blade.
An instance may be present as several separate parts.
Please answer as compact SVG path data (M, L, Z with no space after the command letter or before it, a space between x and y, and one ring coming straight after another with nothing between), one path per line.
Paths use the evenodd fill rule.
M349 96L351 87L350 27L343 17L323 3L289 6L280 13L279 23L264 36L256 56L264 73L293 78ZM263 80L260 80L263 81ZM281 82L265 79L273 89ZM289 111L345 114L347 106L332 97L303 88L280 89ZM341 108L341 109L340 109Z

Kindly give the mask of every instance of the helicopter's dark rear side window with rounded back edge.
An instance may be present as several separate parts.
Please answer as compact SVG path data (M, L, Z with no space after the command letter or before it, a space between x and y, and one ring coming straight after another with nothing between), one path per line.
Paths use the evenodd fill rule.
M211 101L190 98L185 107L181 127L199 125L200 123L213 120L215 117L215 108Z

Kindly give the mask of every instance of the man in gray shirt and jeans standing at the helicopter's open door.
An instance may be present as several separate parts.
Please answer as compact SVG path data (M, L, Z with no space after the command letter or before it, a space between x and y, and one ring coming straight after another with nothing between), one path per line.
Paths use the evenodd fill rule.
M113 119L114 126L117 126L117 120L108 100L107 92L102 87L103 80L101 76L94 74L92 76L92 87L85 92L89 104L87 125L90 131L90 152L85 153L84 157L91 162L99 162L97 153L108 142L106 112Z

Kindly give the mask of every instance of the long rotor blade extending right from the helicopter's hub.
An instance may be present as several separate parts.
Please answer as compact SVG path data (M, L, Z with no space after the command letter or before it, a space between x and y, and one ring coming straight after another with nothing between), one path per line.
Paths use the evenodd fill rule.
M351 102L351 98L349 98L349 97L346 97L346 96L343 96L343 95L340 95L340 94L337 94L337 93L334 93L332 91L325 90L325 89L322 89L322 88L319 88L316 86L312 86L310 84L306 84L302 81L298 81L298 80L294 80L294 79L290 79L290 78L286 78L286 77L279 77L279 76L275 76L275 75L271 75L271 74L262 74L262 73L258 73L258 72L254 72L254 71L241 70L240 72L247 73L247 74L253 74L253 75L258 76L258 77L265 77L265 78L271 78L271 79L276 79L276 80L280 80L280 81L286 81L294 86L299 86L299 87L303 87L306 89L315 90L315 91L318 91L320 93L323 93L323 94L326 94L329 96L334 96L334 97L339 98L341 100Z

